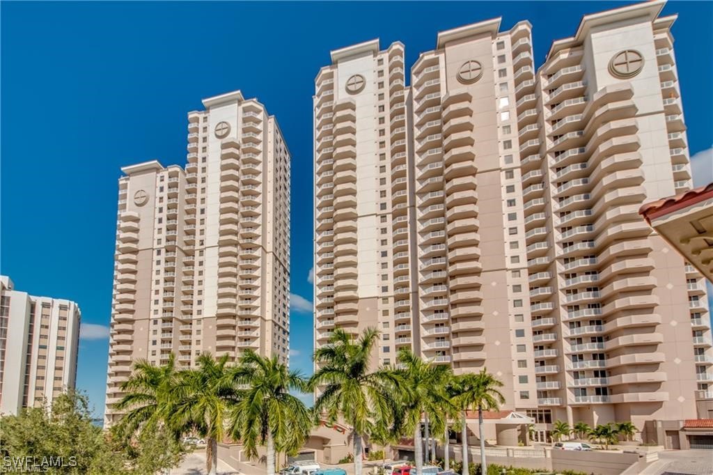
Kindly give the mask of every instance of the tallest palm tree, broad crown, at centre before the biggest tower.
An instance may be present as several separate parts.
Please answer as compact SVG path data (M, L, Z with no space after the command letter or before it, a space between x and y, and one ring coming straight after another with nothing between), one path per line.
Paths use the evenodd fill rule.
M389 425L397 414L393 394L404 391L395 373L380 368L370 371L371 350L379 332L367 328L358 339L342 329L334 330L329 342L314 352L317 371L310 389L321 389L314 402L315 414L327 414L330 422L342 418L352 426L354 472L361 475L362 441L372 424ZM399 388L398 391L396 388Z

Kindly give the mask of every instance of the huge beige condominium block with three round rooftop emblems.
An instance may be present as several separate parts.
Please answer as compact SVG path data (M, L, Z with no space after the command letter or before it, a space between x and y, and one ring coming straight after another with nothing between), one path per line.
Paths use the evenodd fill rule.
M543 423L695 417L704 282L637 213L691 184L662 6L585 16L538 70L527 21L441 32L411 86L401 44L333 51L314 96L317 346L378 327L379 363L409 347L486 367Z

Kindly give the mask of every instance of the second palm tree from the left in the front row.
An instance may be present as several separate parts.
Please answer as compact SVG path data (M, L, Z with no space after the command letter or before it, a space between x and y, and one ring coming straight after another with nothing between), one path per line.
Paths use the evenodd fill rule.
M198 367L180 372L173 388L170 425L181 431L195 430L205 439L205 466L210 475L217 470L217 442L223 438L223 422L235 397L232 388L224 384L227 359L227 354L220 359L201 354L196 360Z

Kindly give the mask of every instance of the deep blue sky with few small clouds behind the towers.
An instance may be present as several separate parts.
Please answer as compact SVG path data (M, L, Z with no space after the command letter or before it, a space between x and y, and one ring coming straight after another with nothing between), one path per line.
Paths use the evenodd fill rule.
M533 24L539 66L583 14L626 3L2 2L0 272L76 300L96 325L81 340L78 387L101 414L119 168L185 164L186 113L241 89L277 116L292 152L292 364L309 373L311 108L329 50L402 41L411 64L438 31L503 16L503 29ZM672 13L690 150L710 177L713 4L671 2Z

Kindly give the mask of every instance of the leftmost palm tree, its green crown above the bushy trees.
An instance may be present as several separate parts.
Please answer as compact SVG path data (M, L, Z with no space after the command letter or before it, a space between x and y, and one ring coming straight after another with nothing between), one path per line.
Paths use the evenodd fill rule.
M121 385L125 394L114 404L115 409L126 411L118 423L120 433L130 436L146 424L165 424L177 375L173 353L162 366L153 366L145 359L135 362L133 373Z

